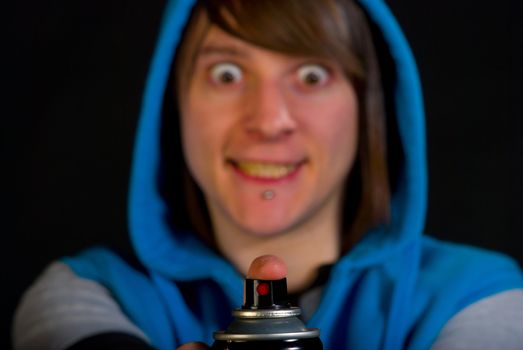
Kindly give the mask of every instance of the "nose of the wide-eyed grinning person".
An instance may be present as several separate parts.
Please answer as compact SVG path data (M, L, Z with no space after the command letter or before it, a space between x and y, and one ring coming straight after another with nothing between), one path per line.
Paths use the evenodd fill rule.
M260 82L247 101L245 126L248 133L265 140L278 140L296 129L284 87L277 82Z

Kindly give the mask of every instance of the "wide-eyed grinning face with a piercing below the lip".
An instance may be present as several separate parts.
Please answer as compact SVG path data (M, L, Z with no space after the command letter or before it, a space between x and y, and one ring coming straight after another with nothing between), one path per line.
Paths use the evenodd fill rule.
M337 217L358 130L338 64L211 27L180 100L185 158L215 229L269 236Z

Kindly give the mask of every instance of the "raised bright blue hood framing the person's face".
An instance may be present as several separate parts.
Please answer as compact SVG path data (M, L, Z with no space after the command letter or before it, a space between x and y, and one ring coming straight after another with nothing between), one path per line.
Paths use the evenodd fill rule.
M137 129L129 192L129 230L141 262L175 280L212 278L238 298L241 276L195 235L173 228L168 213L172 203L162 197L161 134L164 95L177 44L194 0L166 3L157 46L146 82ZM343 258L358 266L387 258L398 247L421 235L426 208L424 113L417 69L401 30L381 0L359 3L383 39L382 51L392 68L389 110L395 118L402 149L397 185L392 193L391 220L368 232ZM378 52L378 55L382 52ZM179 203L183 205L183 203ZM237 299L239 300L239 299Z

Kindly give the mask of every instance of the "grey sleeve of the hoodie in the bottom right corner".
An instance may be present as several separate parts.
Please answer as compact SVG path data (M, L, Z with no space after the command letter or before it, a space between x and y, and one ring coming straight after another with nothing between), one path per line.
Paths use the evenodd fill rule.
M523 347L523 289L482 299L451 318L432 350L516 350Z

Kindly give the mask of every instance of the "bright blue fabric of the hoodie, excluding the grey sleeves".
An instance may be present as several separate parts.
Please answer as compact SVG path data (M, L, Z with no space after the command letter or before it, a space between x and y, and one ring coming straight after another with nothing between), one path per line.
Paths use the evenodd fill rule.
M422 235L427 203L423 103L415 63L381 0L359 0L381 31L395 67L392 100L403 149L391 220L367 232L333 266L308 326L326 349L427 349L467 305L523 287L517 264L483 250ZM196 235L173 228L161 195L163 99L170 67L193 0L165 7L145 87L129 195L129 231L143 269L106 248L64 261L106 286L158 349L212 342L242 299L242 276ZM186 290L190 288L191 298Z

